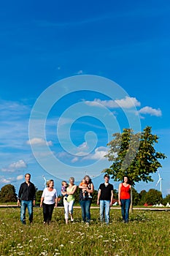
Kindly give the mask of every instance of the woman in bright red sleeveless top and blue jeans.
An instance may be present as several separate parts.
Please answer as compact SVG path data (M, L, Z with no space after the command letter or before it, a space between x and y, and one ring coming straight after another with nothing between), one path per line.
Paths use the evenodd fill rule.
M123 177L123 183L119 185L118 202L121 206L122 217L125 223L128 222L128 212L131 205L131 185L128 184L128 177Z

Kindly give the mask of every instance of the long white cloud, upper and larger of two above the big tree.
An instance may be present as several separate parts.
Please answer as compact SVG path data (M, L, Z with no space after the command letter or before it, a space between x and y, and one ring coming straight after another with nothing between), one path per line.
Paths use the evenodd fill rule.
M115 100L94 99L93 101L85 101L85 104L96 107L99 107L101 104L106 108L134 108L134 106L139 107L141 105L141 103L135 97L128 96L126 96L124 99Z

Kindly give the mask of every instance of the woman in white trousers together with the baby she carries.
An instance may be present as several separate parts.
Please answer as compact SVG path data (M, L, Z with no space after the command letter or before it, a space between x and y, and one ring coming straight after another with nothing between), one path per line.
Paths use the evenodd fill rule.
M74 184L74 177L69 178L69 186L67 187L66 181L62 182L61 194L63 195L63 206L64 206L64 217L66 224L69 222L69 214L71 222L73 219L73 205L74 205L74 193L76 192L77 186Z

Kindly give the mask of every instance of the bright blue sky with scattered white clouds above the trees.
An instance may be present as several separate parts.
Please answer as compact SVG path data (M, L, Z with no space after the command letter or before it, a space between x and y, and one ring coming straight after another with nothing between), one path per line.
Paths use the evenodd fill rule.
M0 187L44 179L95 188L112 133L152 127L169 173L169 1L5 1L0 8ZM99 176L99 178L98 178ZM154 182L136 189L157 188ZM117 183L111 181L117 188Z

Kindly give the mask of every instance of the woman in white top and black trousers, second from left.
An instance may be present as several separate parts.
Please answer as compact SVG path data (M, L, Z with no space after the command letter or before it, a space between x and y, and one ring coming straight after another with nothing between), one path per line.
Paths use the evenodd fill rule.
M47 187L42 192L40 207L43 206L44 224L50 224L54 207L58 204L57 190L53 188L54 181L47 181Z

